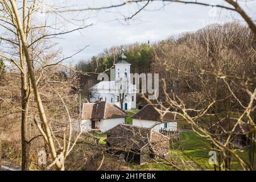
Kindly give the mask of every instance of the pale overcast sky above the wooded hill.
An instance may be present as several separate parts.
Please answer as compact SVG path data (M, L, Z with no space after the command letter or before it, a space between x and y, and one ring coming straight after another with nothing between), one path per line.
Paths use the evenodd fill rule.
M48 1L48 0L44 0ZM51 0L50 2L56 2ZM57 0L57 2L60 2ZM117 4L123 0L69 0L63 1L64 5L79 4L79 7L99 7ZM224 1L212 0L201 1L226 5ZM82 4L82 3L86 3ZM249 1L246 4L241 2L246 12L255 19L256 2ZM142 4L141 4L142 6ZM162 8L161 8L162 7ZM105 48L119 46L121 44L131 44L135 42L150 43L176 36L183 32L195 31L210 23L230 22L233 19L240 19L234 12L199 5L184 5L181 3L169 3L163 7L162 2L152 2L150 5L129 23L123 20L123 15L131 15L138 9L138 5L126 5L118 9L108 9L93 12L69 13L66 16L79 15L77 18L90 17L85 20L86 24L93 23L92 27L82 31L72 32L61 36L62 39L56 40L58 47L63 49L65 56L72 55L79 48L89 45L79 55L69 60L71 63L77 60L89 60L93 55L104 51ZM54 20L54 18L51 18ZM115 20L118 19L118 20ZM72 29L72 25L69 27Z

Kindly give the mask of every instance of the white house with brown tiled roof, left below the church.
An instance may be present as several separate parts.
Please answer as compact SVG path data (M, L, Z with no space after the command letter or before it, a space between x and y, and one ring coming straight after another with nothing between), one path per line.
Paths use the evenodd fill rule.
M125 123L127 113L114 104L105 101L84 103L82 106L82 130L105 132Z

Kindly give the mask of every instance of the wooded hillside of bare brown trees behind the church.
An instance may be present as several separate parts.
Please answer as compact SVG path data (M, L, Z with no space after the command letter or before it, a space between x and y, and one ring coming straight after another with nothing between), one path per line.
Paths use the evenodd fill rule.
M215 85L222 89L218 90L218 93L210 93L210 90L207 95L203 93L204 87L214 88L214 77L209 77L208 82L202 85L200 73L225 72L254 79L255 42L252 38L253 34L249 28L240 23L212 24L196 32L172 36L157 43L134 43L105 49L104 52L93 56L92 60L79 61L76 68L83 72L109 73L121 49L124 49L127 61L131 63L131 73L159 73L160 99L164 100L163 79L170 95L171 92L193 92L197 93L195 97L205 100L210 97L224 98L225 83L222 81ZM85 98L89 96L89 88L97 82L97 74L80 74L80 85ZM183 94L181 97L193 102L189 95ZM243 94L240 97L244 97L245 102L248 99ZM223 109L224 103L219 105L220 109ZM236 106L238 105L235 104L234 107Z

